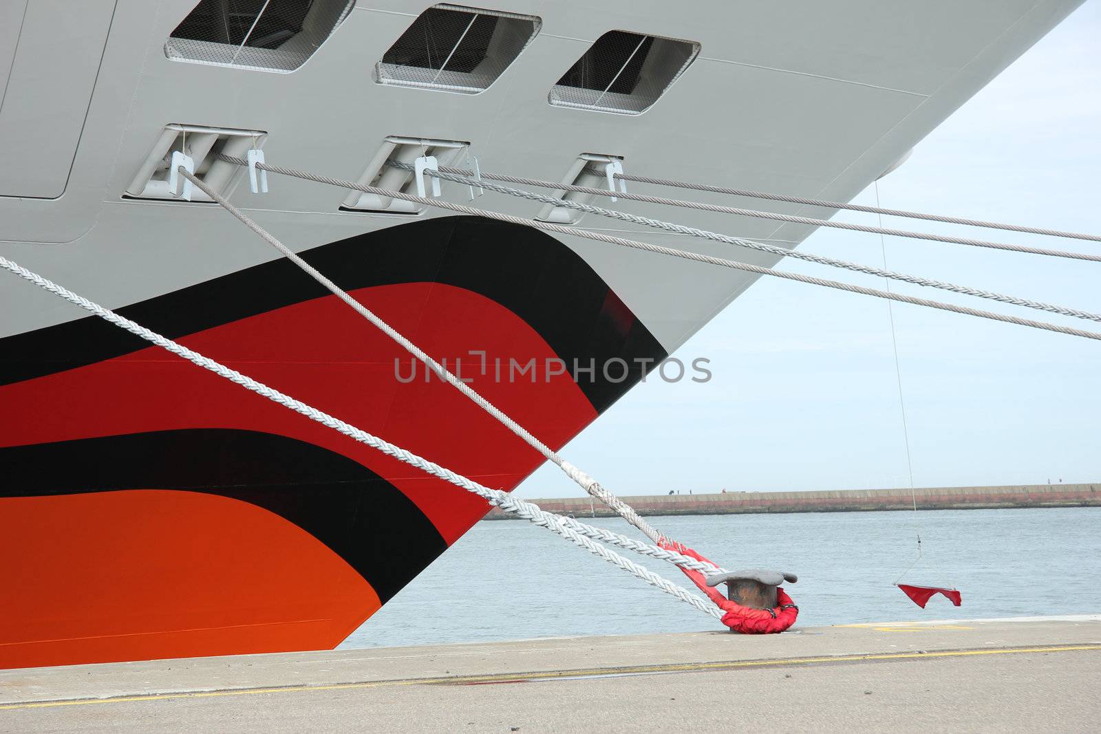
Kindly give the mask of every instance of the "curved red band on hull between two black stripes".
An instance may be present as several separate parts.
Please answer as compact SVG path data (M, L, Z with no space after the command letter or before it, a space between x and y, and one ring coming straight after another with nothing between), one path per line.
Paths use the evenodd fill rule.
M547 344L487 298L439 284L353 292L437 359L491 354L545 363ZM430 315L430 316L429 316ZM425 370L402 383L395 361L408 355L335 296L286 306L190 335L181 341L339 418L483 484L512 489L542 457L454 387ZM537 382L497 382L465 371L472 385L550 446L596 418L566 374ZM473 374L471 374L473 373ZM406 372L407 374L407 372ZM401 490L454 543L486 513L486 503L374 449L150 347L87 366L0 388L9 415L0 446L44 443L151 430L224 428L279 434L344 454Z

